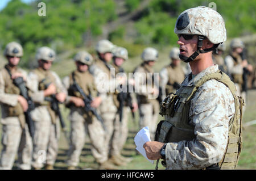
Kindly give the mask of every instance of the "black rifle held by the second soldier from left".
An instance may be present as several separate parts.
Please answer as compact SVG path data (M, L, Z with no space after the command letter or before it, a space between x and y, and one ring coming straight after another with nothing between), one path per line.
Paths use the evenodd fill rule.
M46 78L44 78L40 83L43 83L44 81L46 81ZM47 85L45 85L46 89L49 85L51 85L51 83L48 83ZM64 132L66 139L69 140L67 127L65 125L64 119L60 112L60 107L59 107L60 102L59 102L59 100L57 100L56 95L52 94L52 95L44 98L44 100L51 103L51 109L56 113L56 115L59 116L61 129ZM55 127L55 129L56 129L56 127ZM57 136L57 131L56 131L56 136Z

